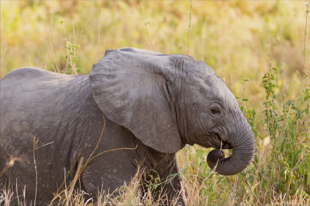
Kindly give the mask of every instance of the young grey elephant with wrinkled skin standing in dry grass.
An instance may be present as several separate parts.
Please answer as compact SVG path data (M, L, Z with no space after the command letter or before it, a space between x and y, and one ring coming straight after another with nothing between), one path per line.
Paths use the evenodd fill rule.
M37 204L49 202L78 153L95 158L83 171L83 191L113 191L131 181L137 162L144 177L157 171L161 179L178 172L175 152L185 144L216 148L207 157L216 171L232 175L251 161L255 141L250 125L227 86L204 62L185 55L163 55L135 48L107 50L89 75L69 76L36 68L20 68L7 74L1 85L1 170L18 157L1 177L18 182L19 194L34 200L35 169L38 172ZM222 148L232 148L224 158ZM95 153L95 154L96 154ZM85 160L84 162L85 163ZM69 179L73 179L76 166ZM69 183L69 180L67 181ZM180 180L172 184L178 190ZM78 183L79 185L79 183ZM176 192L164 187L169 198ZM13 200L14 201L14 200ZM182 200L180 200L182 201Z

